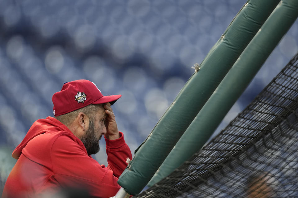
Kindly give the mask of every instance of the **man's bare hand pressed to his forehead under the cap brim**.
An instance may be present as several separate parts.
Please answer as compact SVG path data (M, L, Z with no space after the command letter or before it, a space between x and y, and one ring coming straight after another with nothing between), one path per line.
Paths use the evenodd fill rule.
M111 108L111 104L105 103L103 105L103 108L105 108L105 112L106 112L106 121L105 121L105 125L106 125L106 135L105 137L107 139L110 140L115 140L118 139L119 136L119 131L118 131L118 127L117 127L117 123L115 120L115 115L113 113L113 110Z

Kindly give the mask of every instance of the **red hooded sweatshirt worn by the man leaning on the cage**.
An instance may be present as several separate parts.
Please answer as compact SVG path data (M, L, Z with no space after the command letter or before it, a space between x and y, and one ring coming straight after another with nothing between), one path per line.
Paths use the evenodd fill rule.
M84 188L91 196L115 196L118 177L132 159L123 133L106 139L108 167L88 156L84 144L52 117L33 123L12 157L18 159L3 190L3 197L35 197L59 188Z

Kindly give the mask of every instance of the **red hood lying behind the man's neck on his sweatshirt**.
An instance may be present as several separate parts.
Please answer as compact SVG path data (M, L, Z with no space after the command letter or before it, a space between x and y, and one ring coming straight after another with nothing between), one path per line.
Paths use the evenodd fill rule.
M27 132L24 140L16 147L16 149L12 152L12 157L15 159L19 159L22 150L28 144L30 140L34 137L46 133L48 131L67 131L73 134L69 128L67 128L64 124L62 124L59 120L53 117L47 117L46 119L38 119L35 121Z

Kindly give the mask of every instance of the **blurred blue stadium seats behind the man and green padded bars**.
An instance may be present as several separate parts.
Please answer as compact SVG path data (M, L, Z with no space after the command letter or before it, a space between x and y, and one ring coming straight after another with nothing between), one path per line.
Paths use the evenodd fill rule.
M12 150L53 116L64 82L88 79L113 105L132 152L246 0L0 0L0 190ZM265 62L217 134L298 50L298 22ZM182 112L187 113L187 112ZM166 140L165 140L166 141ZM107 165L105 142L93 157Z

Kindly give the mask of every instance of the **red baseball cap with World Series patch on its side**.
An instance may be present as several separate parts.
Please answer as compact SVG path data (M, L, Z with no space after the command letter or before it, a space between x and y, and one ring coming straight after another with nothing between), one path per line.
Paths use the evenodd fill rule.
M110 102L111 105L121 95L103 96L96 84L89 80L75 80L64 83L61 91L54 93L54 116L67 114L90 104Z

